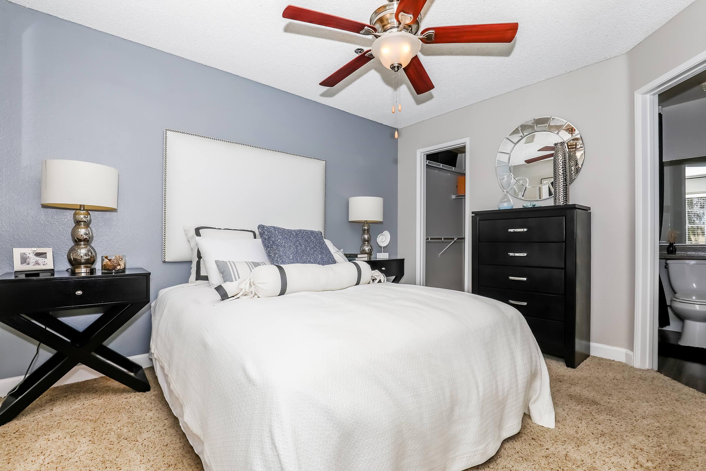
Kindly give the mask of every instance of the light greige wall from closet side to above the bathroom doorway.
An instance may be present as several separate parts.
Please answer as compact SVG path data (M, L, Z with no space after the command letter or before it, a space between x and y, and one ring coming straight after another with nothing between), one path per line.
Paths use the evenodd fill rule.
M633 93L706 50L706 0L696 0L627 54L520 88L400 130L400 256L414 282L417 149L470 136L471 210L496 208L501 141L527 119L554 115L581 131L586 162L571 186L590 205L592 342L633 350L635 309L635 133ZM515 200L515 206L521 201ZM551 204L551 200L543 201Z

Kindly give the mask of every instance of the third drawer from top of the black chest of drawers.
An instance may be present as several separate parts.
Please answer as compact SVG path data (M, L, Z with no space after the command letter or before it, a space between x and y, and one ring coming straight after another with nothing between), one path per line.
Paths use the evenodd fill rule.
M481 287L501 290L564 294L564 270L558 268L481 265L478 282Z

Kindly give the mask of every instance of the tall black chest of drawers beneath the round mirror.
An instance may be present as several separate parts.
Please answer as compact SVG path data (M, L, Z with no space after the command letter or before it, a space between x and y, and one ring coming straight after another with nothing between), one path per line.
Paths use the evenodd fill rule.
M515 307L542 351L571 368L590 350L590 210L561 205L472 215L472 292Z

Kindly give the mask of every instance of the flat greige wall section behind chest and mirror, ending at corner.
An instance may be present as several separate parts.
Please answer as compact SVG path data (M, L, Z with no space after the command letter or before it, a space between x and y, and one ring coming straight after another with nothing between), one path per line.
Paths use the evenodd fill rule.
M577 127L586 147L585 162L571 185L570 197L572 203L592 208L592 340L627 347L627 326L616 324L626 321L630 300L622 290L619 297L608 293L624 285L634 270L629 262L633 243L625 235L634 224L633 196L626 186L633 172L626 158L630 151L630 93L625 82L616 86L602 80L626 76L627 59L619 56L402 129L398 201L400 255L406 258L405 273L409 274L405 280L414 280L413 162L417 149L470 137L466 150L467 208L496 209L503 192L495 174L495 157L505 136L527 119L561 117ZM513 198L513 203L520 208L525 201ZM540 203L551 205L552 200ZM410 237L405 237L407 234ZM602 333L602 326L608 323L611 328Z

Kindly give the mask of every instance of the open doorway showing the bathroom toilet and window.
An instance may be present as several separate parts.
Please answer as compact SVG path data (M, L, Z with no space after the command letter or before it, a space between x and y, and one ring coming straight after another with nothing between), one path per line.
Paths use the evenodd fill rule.
M657 371L706 393L706 71L657 99Z

